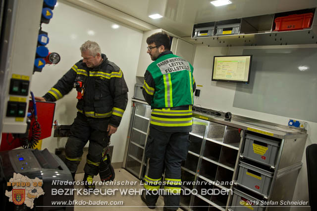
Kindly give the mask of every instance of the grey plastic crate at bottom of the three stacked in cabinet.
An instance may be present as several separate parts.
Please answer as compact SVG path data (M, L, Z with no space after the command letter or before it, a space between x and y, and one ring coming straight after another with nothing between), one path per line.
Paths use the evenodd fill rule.
M265 211L262 201L234 189L232 196L231 211Z

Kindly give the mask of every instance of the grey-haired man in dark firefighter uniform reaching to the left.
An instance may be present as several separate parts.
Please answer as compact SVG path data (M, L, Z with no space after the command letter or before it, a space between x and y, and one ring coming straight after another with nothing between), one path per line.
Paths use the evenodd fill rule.
M83 59L37 100L54 102L73 88L77 89L78 112L65 146L65 164L74 178L83 148L89 140L84 181L88 184L86 188L95 188L91 182L94 175L103 170L99 168L104 166L102 162L107 161L105 150L127 106L128 88L121 69L101 53L96 42L85 42L80 51Z

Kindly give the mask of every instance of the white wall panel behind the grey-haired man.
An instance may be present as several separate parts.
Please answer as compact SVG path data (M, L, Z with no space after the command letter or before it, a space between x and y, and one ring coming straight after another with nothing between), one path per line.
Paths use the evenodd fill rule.
M111 28L113 24L119 28ZM34 74L31 90L36 96L48 92L82 58L79 48L87 40L99 43L102 53L122 69L129 88L129 102L117 132L111 136L111 145L114 146L112 162L122 162L143 33L61 0L53 10L53 19L42 26L49 33L50 52L59 53L61 60L57 65L46 65L41 73ZM73 90L56 102L54 119L58 119L60 124L71 124L76 117L76 95ZM65 143L66 138L62 138L61 146ZM57 138L53 138L52 130L52 137L43 140L42 149L48 148L54 153L56 147Z

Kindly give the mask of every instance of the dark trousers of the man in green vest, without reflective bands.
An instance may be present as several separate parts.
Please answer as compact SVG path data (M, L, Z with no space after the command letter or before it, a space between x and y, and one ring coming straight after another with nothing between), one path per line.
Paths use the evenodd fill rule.
M189 143L189 132L164 132L151 125L145 149L148 159L146 175L156 180L165 171L165 179L181 179L181 162L187 157ZM169 207L169 210L178 209L180 195L163 197L164 206ZM155 204L158 198L158 194L146 195L147 202L151 204Z

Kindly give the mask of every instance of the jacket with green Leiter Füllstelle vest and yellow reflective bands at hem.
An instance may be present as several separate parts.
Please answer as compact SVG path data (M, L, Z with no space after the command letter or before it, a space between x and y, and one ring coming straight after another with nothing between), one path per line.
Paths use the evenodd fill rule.
M153 108L151 124L164 127L192 125L193 66L170 51L161 53L145 73L143 95Z

